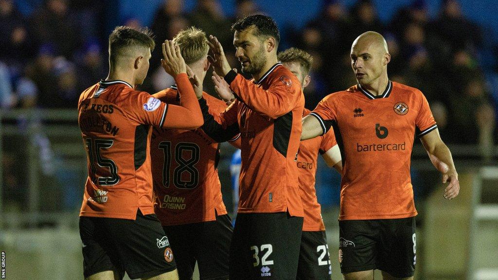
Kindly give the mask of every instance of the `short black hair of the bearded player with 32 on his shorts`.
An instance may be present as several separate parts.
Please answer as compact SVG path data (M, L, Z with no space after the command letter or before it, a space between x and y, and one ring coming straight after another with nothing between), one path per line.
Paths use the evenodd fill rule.
M251 27L256 27L255 36L271 36L275 38L277 45L280 42L280 31L278 31L277 23L273 18L262 14L248 15L239 19L232 25L232 32L241 32Z

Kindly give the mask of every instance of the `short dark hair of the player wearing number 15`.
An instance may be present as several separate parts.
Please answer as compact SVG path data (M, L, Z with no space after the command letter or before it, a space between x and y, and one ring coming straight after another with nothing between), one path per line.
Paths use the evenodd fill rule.
M155 47L152 31L147 27L134 29L129 26L117 26L109 35L109 59L116 62L127 51L136 48L149 48L152 52Z

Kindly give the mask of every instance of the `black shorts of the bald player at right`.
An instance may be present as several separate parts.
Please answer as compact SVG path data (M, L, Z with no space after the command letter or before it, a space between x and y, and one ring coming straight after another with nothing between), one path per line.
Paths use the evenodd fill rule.
M378 269L412 277L416 263L415 217L339 221L341 273Z

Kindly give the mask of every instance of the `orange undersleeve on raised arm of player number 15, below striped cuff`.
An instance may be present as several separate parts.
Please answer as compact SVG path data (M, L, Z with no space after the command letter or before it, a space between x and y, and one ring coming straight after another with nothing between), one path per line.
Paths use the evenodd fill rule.
M199 102L187 74L180 73L176 75L175 82L180 94L180 105L168 104L163 127L184 130L199 128L204 121Z

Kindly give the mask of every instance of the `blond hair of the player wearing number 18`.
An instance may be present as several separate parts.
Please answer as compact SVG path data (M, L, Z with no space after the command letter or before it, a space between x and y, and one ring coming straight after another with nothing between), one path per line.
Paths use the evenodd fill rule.
M194 26L178 32L173 38L173 42L180 47L186 64L199 61L208 55L209 45L206 33Z

